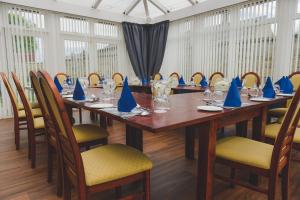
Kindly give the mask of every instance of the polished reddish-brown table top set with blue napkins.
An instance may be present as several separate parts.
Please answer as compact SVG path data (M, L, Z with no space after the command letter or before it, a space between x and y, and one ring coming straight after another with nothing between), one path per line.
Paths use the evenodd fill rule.
M89 94L94 94L100 98L100 102L107 102L101 100L101 89L99 88L89 88ZM133 93L136 102L144 107L150 109L152 112L148 116L133 116L128 119L121 119L119 116L113 116L111 113L105 112L105 110L90 108L92 103L89 102L76 102L73 99L64 99L67 104L72 104L75 107L82 107L87 110L92 110L100 114L107 114L110 117L119 119L121 121L127 121L130 125L148 130L151 132L165 131L172 128L185 127L188 125L199 124L204 121L211 119L223 118L232 115L237 112L244 112L247 114L247 109L260 108L267 105L272 105L275 103L286 101L288 97L276 97L267 102L254 102L249 100L248 97L243 97L243 106L240 108L226 109L224 108L221 112L205 112L198 111L197 106L206 105L203 101L203 93L186 93L186 94L176 94L170 96L170 110L166 113L154 113L154 103L152 96L143 93ZM118 97L114 100L109 101L117 105Z

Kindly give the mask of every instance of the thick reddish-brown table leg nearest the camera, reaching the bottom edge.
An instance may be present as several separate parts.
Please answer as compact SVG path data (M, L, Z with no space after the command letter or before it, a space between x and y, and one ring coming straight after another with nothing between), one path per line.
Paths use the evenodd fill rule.
M215 121L200 124L196 199L212 199L217 128Z

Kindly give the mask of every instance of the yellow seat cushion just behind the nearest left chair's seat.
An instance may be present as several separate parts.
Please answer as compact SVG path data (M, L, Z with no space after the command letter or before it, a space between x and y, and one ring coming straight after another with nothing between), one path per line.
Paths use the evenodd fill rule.
M77 143L90 142L106 138L107 130L92 124L80 124L72 127Z

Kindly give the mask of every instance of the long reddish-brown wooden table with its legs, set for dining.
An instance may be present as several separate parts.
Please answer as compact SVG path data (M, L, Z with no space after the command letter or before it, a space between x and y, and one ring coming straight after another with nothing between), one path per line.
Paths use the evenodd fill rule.
M89 92L101 99L99 88L90 88ZM137 103L153 111L152 96L145 93L133 93ZM221 112L198 111L197 106L205 105L203 93L185 93L170 96L170 110L166 113L151 112L147 116L120 117L105 109L91 108L90 102L76 102L65 98L69 114L72 108L82 108L100 114L101 126L106 127L106 118L120 121L126 125L126 144L143 151L143 130L153 133L186 128L186 155L192 158L194 152L194 133L198 134L199 149L197 151L197 188L196 199L212 199L213 171L217 130L227 125L236 125L237 134L246 136L247 122L253 120L252 137L260 140L264 136L267 119L267 108L273 104L285 102L287 97L277 97L267 102L253 102L243 97L241 108L225 109ZM101 101L101 100L100 100ZM117 104L117 99L114 100ZM171 133L170 133L171 134ZM192 155L191 155L192 154Z

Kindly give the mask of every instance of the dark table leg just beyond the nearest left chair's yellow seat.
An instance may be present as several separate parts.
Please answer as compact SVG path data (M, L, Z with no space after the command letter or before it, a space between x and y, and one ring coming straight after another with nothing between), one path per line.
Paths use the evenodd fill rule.
M143 130L126 125L126 144L143 151Z

